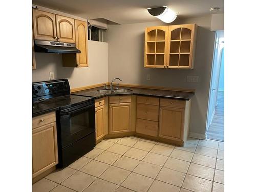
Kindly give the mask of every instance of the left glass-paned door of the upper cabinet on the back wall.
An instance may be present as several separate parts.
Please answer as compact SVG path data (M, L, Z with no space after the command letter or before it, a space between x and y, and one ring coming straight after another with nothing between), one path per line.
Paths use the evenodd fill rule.
M166 68L168 26L148 27L145 29L144 67Z

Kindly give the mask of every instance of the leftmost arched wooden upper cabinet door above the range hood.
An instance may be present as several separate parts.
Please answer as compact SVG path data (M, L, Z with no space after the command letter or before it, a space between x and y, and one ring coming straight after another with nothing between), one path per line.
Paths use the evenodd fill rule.
M34 39L56 40L55 14L33 9Z

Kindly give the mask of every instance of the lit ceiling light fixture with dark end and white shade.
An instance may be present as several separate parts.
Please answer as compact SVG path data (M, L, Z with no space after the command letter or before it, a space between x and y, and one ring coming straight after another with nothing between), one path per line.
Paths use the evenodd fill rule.
M166 6L156 7L156 8L148 8L147 11L151 15L162 20L164 23L171 23L177 17L177 14L175 12L173 12L172 10L170 10Z

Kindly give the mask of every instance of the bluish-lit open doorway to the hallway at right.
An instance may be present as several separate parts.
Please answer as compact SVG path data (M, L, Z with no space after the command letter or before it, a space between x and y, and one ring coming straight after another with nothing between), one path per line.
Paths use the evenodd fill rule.
M206 137L224 142L224 31L216 32L215 42Z

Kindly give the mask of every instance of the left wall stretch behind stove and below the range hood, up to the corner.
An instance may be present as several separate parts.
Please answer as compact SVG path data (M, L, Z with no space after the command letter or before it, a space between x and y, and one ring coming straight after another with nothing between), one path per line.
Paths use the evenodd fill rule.
M89 67L62 67L62 55L55 53L35 53L36 70L32 80L50 80L49 72L54 72L55 79L68 78L70 88L79 88L108 82L108 43L88 40Z

